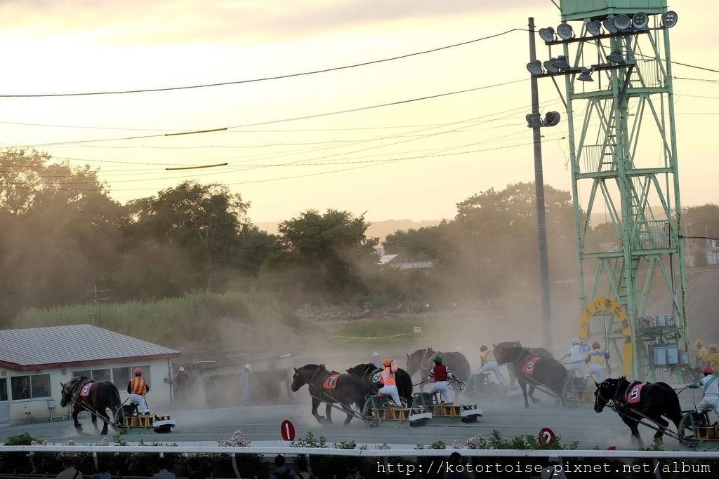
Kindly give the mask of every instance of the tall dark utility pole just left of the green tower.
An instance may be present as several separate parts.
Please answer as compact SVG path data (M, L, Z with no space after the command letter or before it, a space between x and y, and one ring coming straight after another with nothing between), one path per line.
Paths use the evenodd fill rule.
M534 17L529 17L529 61L536 60ZM544 171L541 159L541 119L537 78L530 78L532 90L531 128L534 143L534 188L536 191L537 244L539 246L539 287L541 289L542 345L551 350L551 304L549 302L549 255L546 248L546 212L544 208Z

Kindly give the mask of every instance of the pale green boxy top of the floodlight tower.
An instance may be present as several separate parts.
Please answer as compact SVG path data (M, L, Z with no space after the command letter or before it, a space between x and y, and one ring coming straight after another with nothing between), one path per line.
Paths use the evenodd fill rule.
M615 15L630 17L640 11L646 14L662 14L667 9L667 0L560 0L562 21L604 20Z

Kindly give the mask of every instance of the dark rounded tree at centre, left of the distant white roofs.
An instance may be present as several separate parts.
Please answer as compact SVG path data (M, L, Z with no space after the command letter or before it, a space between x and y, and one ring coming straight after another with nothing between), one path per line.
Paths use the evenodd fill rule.
M268 269L285 271L308 292L364 291L362 270L375 266L379 242L365 236L369 225L363 215L355 217L347 211L303 212L280 223L280 250Z

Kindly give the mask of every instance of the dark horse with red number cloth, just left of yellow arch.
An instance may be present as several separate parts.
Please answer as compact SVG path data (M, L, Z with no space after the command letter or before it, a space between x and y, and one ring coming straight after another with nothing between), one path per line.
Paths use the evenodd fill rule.
M494 355L499 364L511 363L513 365L517 382L524 396L524 407L529 407L527 385L529 386L528 396L533 403L539 402L539 399L534 397L535 386L546 387L554 393L557 401L564 402L562 394L564 381L567 379L567 368L564 368L562 363L552 358L543 358L538 354L531 353L530 350L522 348L519 343L513 341L495 344ZM539 359L533 362L532 372L526 373L522 371L523 366L533 356L539 356Z

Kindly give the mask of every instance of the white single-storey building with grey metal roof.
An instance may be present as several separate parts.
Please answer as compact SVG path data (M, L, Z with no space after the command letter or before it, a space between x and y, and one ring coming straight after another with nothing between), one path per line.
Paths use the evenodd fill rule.
M180 351L91 325L0 330L0 425L66 414L60 411L60 383L73 376L112 381L124 401L136 367L142 368L150 385L150 410L168 406L171 360L179 355Z

